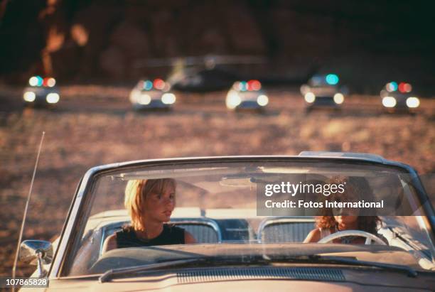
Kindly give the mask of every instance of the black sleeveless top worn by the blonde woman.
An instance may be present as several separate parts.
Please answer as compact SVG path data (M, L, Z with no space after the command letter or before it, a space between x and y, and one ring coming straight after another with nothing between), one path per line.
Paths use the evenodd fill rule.
M184 229L173 225L163 224L163 231L158 237L144 240L139 239L133 227L124 227L117 232L117 248L151 247L154 245L184 244Z

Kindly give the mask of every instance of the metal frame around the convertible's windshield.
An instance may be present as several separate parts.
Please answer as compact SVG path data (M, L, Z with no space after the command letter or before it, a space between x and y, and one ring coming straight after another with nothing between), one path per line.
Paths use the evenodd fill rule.
M417 171L411 166L404 163L398 163L387 160L374 160L370 158L354 158L354 157L335 157L335 156L218 156L218 157L196 157L196 158L168 158L168 159L151 159L143 161L130 161L124 163L112 163L104 166L90 168L82 178L78 186L73 203L68 212L67 221L60 235L58 249L55 254L53 264L50 266L50 279L60 279L68 276L68 269L71 266L71 260L74 256L71 252L74 250L74 245L79 242L77 234L81 234L85 228L85 223L90 215L89 202L92 200L92 192L97 188L98 178L111 173L119 173L120 171L134 171L147 167L159 166L181 166L181 165L207 165L210 163L353 163L366 166L381 166L393 168L398 171L407 173L412 178L413 186L416 190L417 198L424 202L427 200L426 192L419 179ZM426 203L422 205L429 225L432 230L435 230L435 212L433 207ZM84 214L85 213L85 214ZM432 242L435 242L435 234L429 234Z

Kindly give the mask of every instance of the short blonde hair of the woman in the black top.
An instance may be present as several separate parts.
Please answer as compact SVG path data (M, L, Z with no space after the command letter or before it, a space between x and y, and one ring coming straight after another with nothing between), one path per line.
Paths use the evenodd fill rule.
M131 217L131 227L144 230L144 205L150 193L163 193L168 188L176 189L173 178L129 180L125 188L124 206Z

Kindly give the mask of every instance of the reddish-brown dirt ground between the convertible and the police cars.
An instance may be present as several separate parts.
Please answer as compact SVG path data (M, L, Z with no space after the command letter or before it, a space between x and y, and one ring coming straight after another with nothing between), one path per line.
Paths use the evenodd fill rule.
M292 88L269 90L265 114L227 112L225 92L178 94L172 112L131 111L129 88L61 87L58 109L22 109L0 89L0 276L11 275L36 151L41 153L24 239L63 227L80 177L92 166L146 158L297 155L305 150L376 153L435 171L435 99L415 115L385 114L380 98L351 95L341 112L306 114ZM29 269L19 266L18 275Z

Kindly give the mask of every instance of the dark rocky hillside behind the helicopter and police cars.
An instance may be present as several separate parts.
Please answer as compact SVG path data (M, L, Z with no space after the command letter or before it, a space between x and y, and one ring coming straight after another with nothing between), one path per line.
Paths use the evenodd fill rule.
M3 0L0 75L126 81L170 70L148 60L260 55L266 64L252 72L301 78L323 69L357 85L392 78L430 85L430 9L424 1L388 2Z

